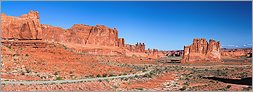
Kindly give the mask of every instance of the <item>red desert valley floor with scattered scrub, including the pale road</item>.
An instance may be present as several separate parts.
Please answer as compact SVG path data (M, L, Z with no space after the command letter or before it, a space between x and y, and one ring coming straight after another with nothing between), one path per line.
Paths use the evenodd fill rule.
M251 58L180 64L162 62L177 57L98 56L48 46L3 46L2 90L252 90ZM43 82L49 80L55 82Z

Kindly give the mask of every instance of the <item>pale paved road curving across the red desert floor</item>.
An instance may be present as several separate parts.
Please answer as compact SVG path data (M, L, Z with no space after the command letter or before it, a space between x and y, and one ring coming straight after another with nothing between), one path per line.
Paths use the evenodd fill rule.
M148 74L151 71L146 71L143 73L121 75L121 76L112 76L112 77L101 77L101 78L87 78L79 80L55 80L55 81L1 81L1 84L61 84L61 83L77 83L77 82L87 82L87 81L96 81L96 80L107 80L107 79L117 79L117 78L129 78L134 76L141 76Z

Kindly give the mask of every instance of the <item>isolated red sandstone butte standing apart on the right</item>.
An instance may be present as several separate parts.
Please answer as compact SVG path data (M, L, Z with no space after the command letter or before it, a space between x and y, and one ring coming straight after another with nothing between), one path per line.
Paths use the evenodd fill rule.
M182 63L220 61L220 42L210 39L194 39L193 44L184 47Z

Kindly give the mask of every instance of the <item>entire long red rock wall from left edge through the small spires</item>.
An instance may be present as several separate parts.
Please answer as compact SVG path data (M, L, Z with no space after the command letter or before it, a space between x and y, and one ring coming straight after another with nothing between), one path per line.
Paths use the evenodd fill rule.
M5 14L1 14L1 17L2 38L6 41L37 40L37 43L40 44L42 42L57 42L73 47L72 49L78 52L86 51L90 54L98 55L159 57L157 49L145 50L144 43L137 43L135 45L125 44L124 38L118 38L118 30L116 28L112 29L104 25L88 26L75 24L69 29L63 29L40 24L39 12L37 11L30 11L28 14L20 17L7 16ZM41 40L41 42L38 42L38 40ZM5 42L4 45L10 45L10 43ZM87 48L92 49L87 50Z

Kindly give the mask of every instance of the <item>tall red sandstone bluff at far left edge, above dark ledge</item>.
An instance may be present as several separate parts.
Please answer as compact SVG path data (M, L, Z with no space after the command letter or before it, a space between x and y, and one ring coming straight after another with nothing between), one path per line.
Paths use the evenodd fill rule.
M41 39L42 29L39 13L30 11L20 17L1 14L3 39Z

